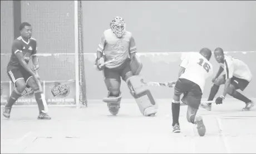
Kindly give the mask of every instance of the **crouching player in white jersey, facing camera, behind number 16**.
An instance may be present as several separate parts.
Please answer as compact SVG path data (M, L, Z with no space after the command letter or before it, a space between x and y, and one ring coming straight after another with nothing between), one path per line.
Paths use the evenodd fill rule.
M239 89L244 91L252 80L252 73L247 64L237 58L225 55L221 48L216 48L214 50L214 57L220 64L220 68L212 80L214 85L211 87L208 101L212 101L219 90L219 86L225 84L223 95L216 98L216 104L222 104L225 96L229 94L230 96L245 102L243 111L250 110L254 106L254 102L237 91ZM225 74L220 76L223 71L225 71ZM201 107L206 108L206 110L211 110L211 103L201 105Z

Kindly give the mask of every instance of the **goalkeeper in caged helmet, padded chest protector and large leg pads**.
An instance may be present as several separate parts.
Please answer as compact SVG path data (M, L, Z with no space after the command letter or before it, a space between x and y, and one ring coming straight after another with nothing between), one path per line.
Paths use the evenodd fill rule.
M136 52L137 48L132 34L125 31L124 19L119 16L115 17L110 23L110 29L104 31L101 37L95 63L104 74L105 85L109 93L103 101L107 103L112 115L117 115L120 108L121 78L127 83L142 115L151 116L157 112L157 106L151 92L141 85L141 77L138 74L142 64ZM101 67L101 64L114 58L114 61Z

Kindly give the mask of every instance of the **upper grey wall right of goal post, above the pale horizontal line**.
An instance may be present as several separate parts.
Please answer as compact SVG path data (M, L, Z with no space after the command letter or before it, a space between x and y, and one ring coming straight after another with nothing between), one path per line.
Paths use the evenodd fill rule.
M83 1L85 52L121 16L139 52L256 50L255 1Z

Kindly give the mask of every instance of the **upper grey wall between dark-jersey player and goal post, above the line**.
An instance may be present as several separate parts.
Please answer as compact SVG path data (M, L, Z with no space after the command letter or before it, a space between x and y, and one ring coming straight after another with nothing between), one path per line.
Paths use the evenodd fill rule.
M21 15L33 26L38 52L74 52L73 1L22 1Z

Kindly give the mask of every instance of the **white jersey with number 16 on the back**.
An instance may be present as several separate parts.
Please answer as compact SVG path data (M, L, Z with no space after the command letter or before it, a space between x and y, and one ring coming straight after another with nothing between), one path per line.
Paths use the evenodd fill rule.
M180 78L196 83L204 91L205 80L213 74L213 65L200 53L187 54L180 64L185 72Z

